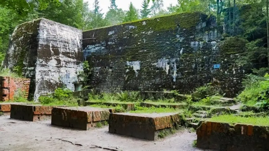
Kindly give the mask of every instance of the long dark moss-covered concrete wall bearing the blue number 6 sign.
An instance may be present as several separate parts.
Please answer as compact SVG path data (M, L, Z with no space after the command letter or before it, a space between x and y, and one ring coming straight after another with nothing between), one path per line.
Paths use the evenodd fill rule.
M234 95L243 73L234 59L244 48L226 48L230 44L220 43L221 32L216 18L201 12L83 32L83 39L96 38L83 41L84 59L92 67L90 85L102 89L177 89L190 93L215 78L228 96ZM220 69L214 69L213 64L220 64Z

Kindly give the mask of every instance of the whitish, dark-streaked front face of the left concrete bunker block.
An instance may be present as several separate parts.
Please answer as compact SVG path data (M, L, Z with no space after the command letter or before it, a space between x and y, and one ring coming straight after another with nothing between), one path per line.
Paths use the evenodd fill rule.
M41 19L36 62L35 98L54 91L62 84L75 90L83 71L82 31L47 19Z

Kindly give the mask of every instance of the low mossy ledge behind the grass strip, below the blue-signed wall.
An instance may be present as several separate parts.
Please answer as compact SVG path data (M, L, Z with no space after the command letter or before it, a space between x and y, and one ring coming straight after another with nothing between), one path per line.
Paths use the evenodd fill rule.
M145 107L163 107L163 108L174 108L174 109L181 109L181 108L187 108L188 104L187 103L178 103L178 104L169 104L169 103L159 103L159 102L141 102L140 106L145 106Z

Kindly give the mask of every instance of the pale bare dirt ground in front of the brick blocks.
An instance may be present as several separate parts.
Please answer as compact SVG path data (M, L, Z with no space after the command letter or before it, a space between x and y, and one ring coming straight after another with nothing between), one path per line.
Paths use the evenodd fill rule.
M108 132L108 126L89 131L53 126L50 120L29 122L0 116L0 151L202 151L192 147L196 134L184 129L149 141ZM97 147L98 146L98 147ZM107 149L105 149L107 148Z

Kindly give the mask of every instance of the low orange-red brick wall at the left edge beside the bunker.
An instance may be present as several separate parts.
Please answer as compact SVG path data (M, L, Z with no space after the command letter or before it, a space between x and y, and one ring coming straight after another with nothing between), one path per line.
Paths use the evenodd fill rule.
M0 83L0 101L13 101L19 89L25 93L24 97L28 97L30 79L0 76Z

